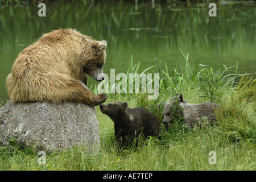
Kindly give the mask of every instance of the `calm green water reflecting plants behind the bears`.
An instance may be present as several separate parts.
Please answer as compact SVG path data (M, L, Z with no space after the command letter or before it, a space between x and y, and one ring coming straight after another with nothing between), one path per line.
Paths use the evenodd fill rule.
M0 7L0 98L9 100L6 76L22 49L43 33L76 28L97 40L106 40L104 72L126 72L133 55L143 68L155 57L172 71L188 53L194 63L207 54L205 64L227 67L238 63L238 72L254 73L256 62L256 6L217 5L217 17L209 17L208 4L193 6L141 3L46 4L46 17L37 6ZM202 59L203 60L203 59Z

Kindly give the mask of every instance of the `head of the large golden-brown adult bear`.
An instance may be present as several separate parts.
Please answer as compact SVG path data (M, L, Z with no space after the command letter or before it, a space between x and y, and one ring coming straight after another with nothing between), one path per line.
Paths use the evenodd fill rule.
M84 73L97 81L104 80L103 67L106 61L105 40L96 41L89 36L82 38L81 64Z

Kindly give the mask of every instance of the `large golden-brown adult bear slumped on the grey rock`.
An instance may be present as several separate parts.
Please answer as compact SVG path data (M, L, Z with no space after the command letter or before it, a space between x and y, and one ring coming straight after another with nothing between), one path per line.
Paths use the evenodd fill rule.
M95 96L76 80L87 85L84 73L97 81L104 80L106 41L96 41L72 29L44 34L16 58L6 78L12 102L64 101L96 106L106 95Z

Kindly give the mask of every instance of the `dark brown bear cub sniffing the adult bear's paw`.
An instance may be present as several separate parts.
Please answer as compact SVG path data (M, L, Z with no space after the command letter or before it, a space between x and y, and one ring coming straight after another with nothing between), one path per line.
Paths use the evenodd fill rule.
M143 108L129 108L127 102L109 102L100 105L101 112L108 115L114 122L115 139L125 144L125 136L138 138L144 136L159 137L159 123L154 114Z

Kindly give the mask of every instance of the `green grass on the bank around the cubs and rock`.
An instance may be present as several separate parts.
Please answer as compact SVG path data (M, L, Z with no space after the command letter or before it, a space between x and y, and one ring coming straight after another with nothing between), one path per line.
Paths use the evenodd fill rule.
M236 72L222 74L224 71L210 71L219 75L217 81L225 84L214 89L214 97L207 96L198 78L214 82L204 77L199 61L192 66L188 55L182 71L172 72L161 69L158 100L147 100L147 94L109 94L106 102L127 101L130 107L146 107L156 114L161 123L162 104L176 92L192 103L210 100L217 102L221 110L217 112L217 124L205 123L200 128L187 127L174 123L162 128L162 139L142 140L138 147L133 145L119 149L114 141L114 123L100 108L96 107L100 126L101 145L97 154L86 152L83 146L73 146L64 151L46 155L46 165L39 165L37 152L33 148L21 149L15 139L9 146L0 147L0 170L253 170L256 169L255 129L256 129L256 89L255 79L250 75ZM185 71L187 70L187 71ZM142 73L132 62L129 72ZM175 74L174 74L175 73ZM238 77L236 86L233 77ZM243 77L242 77L243 76ZM168 86L172 85L172 86ZM92 86L96 88L96 86ZM94 90L96 92L96 90ZM216 152L217 164L209 164L209 152Z

